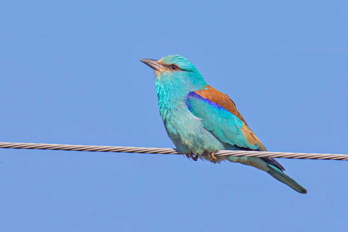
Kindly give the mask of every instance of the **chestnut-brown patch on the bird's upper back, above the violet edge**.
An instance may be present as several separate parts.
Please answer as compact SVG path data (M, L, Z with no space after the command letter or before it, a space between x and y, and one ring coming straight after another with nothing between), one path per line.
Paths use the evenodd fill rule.
M201 90L194 91L194 92L199 94L203 98L209 99L210 101L221 105L222 107L224 107L225 109L227 109L228 111L236 115L240 120L242 120L247 125L243 116L237 110L235 103L225 93L220 92L219 90L211 87L210 85L207 85Z

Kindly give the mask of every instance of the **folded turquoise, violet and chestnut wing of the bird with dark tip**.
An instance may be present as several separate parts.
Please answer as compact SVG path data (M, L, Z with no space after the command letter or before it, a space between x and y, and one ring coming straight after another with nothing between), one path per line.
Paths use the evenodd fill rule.
M188 94L187 107L194 116L202 119L204 128L222 142L248 150L266 151L226 94L207 85ZM273 158L264 160L284 169Z

